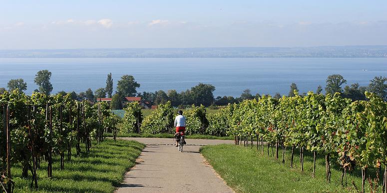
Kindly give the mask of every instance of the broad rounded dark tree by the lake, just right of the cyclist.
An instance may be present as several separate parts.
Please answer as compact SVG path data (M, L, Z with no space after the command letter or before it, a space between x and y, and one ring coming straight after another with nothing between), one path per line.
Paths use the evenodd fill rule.
M193 102L195 102L195 105L211 105L214 102L214 91L215 86L211 84L199 83L198 85L191 88Z

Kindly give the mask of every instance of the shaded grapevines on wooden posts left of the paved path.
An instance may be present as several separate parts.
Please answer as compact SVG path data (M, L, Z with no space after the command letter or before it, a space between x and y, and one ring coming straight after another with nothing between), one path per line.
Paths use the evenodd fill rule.
M47 178L55 175L53 157L59 158L59 170L64 170L72 156L90 152L92 140L99 144L104 132L115 133L107 103L92 105L73 100L70 94L34 92L26 96L16 89L0 95L0 107L0 190L8 193L15 186L12 166L21 165L22 178L28 178L30 172L30 187L38 189L37 171L43 170L41 166L46 166Z

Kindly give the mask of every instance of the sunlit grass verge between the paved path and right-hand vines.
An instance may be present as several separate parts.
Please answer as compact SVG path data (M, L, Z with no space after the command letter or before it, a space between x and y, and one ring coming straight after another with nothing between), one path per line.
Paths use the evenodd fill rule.
M348 174L348 187L342 188L340 182L342 172L337 166L331 167L331 183L326 182L325 159L322 156L317 160L316 178L311 178L312 154L306 153L304 156L304 172L301 172L298 154L294 157L297 168L290 169L290 151L286 152L286 163L282 165L282 150L281 161L275 160L274 157L268 158L266 148L264 150L265 155L262 155L257 153L256 147L216 145L202 147L200 152L226 183L238 193L355 192L352 181L355 181L357 188L361 190L359 170L354 174ZM375 171L370 171L370 174L375 175ZM366 192L370 192L369 187L366 181ZM381 192L380 189L379 191Z

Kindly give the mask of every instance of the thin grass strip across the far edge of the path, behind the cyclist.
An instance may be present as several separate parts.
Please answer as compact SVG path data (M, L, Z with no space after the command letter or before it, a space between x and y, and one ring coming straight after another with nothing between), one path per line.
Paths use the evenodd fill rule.
M111 133L105 133L104 137L113 137L113 134ZM117 137L145 137L145 138L173 138L173 134L169 133L160 133L160 134L149 134L149 133L143 133L143 134L137 134L137 133L118 133ZM199 134L193 134L193 135L186 135L187 139L219 139L219 140L234 140L233 137L227 136L227 137L218 137L218 136L211 136L211 135L199 135Z

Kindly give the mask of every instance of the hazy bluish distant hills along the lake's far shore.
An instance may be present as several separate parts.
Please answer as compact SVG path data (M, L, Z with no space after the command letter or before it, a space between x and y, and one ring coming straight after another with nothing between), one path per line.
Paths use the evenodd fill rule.
M387 57L387 45L0 50L4 58Z

